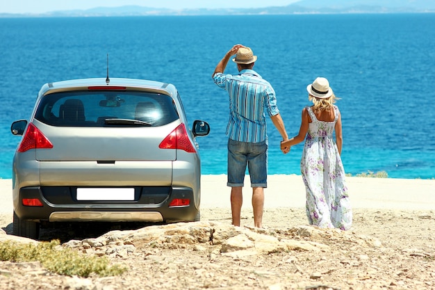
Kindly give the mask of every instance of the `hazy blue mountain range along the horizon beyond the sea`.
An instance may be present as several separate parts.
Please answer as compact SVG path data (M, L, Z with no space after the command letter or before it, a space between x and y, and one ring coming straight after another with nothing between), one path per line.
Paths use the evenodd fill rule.
M0 17L97 17L158 15L285 15L344 13L435 13L434 0L302 0L288 6L265 8L167 9L144 6L97 7L88 10L53 11L43 14L10 14Z

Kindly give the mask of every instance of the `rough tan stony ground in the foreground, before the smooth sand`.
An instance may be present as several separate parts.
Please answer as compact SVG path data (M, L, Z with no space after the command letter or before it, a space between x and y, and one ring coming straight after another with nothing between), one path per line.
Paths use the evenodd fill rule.
M230 225L229 209L202 209L197 223L101 236L43 231L41 239L63 239L129 271L68 277L0 261L0 289L435 289L434 211L355 209L347 232L307 226L304 209L265 209L265 229L251 227L252 212L243 216L242 227ZM0 222L1 242L12 214Z

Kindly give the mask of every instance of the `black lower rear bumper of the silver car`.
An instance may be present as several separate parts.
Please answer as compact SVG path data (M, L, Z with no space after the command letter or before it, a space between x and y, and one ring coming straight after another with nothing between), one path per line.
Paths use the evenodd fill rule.
M77 200L76 186L31 186L19 189L15 214L23 220L36 222L165 222L195 220L199 209L195 207L192 188L135 186L134 200ZM38 199L42 206L26 206L24 199ZM188 199L188 205L170 207L174 199Z

